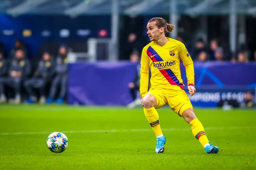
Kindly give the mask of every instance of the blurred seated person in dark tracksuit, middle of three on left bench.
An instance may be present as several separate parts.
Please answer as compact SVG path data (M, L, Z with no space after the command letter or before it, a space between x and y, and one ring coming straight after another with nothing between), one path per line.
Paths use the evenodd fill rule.
M31 79L24 82L24 87L29 94L28 103L34 103L37 101L33 88L39 89L40 99L39 103L45 103L45 86L52 79L55 71L55 63L49 52L44 52L43 58L38 62L38 67Z

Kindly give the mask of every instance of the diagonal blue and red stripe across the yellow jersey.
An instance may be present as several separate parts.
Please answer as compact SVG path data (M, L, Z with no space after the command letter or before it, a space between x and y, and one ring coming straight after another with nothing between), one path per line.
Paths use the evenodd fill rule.
M148 47L147 54L148 54L148 57L150 57L153 62L163 61L163 59L159 56L159 54L157 54L157 52L151 46ZM177 79L177 77L175 76L175 74L172 72L170 68L166 68L166 69L158 68L158 69L160 73L163 74L163 76L167 79L167 81L171 85L177 85L182 90L184 90L183 84L179 82L179 80Z

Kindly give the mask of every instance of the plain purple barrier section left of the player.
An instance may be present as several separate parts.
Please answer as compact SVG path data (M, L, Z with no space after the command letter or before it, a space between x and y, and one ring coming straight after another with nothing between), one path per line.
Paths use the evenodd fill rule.
M76 63L69 65L70 105L127 105L128 83L137 65L130 62Z

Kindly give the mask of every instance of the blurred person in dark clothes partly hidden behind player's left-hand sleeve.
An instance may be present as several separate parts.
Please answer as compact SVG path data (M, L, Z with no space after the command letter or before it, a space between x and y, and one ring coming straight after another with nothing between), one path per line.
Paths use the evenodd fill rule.
M128 84L130 89L132 102L128 105L128 108L134 108L137 105L140 105L141 98L137 98L137 92L140 90L140 57L138 53L131 54L130 61L137 63L137 70L134 75L132 82Z

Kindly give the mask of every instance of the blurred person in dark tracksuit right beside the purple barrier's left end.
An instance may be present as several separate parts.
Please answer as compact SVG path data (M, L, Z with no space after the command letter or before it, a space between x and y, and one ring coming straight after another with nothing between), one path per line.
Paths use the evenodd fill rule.
M67 58L67 47L66 45L61 45L59 48L59 54L55 61L55 77L52 80L49 98L47 103L52 103L57 92L58 86L60 85L60 93L58 94L58 99L56 102L62 104L64 102L64 97L67 93L67 80L68 80L68 58Z

